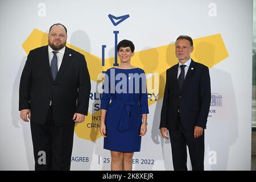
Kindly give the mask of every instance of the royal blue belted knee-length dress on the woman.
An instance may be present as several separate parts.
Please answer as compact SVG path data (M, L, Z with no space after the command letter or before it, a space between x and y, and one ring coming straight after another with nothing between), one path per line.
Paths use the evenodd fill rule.
M107 110L104 148L110 151L139 152L142 114L148 114L143 69L108 69L101 109Z

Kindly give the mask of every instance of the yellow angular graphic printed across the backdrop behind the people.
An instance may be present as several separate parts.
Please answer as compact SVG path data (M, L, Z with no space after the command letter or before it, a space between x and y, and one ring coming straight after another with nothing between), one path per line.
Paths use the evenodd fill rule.
M193 43L194 51L191 54L192 59L207 65L209 68L220 63L220 61L226 59L226 57L229 56L220 34L194 39ZM43 31L34 29L22 44L22 47L28 54L30 50L40 46L46 46L47 44L48 35ZM102 71L106 71L107 69L113 67L114 57L105 59L105 66L102 67L100 57L92 55L91 53L86 52L69 43L67 43L67 46L75 49L85 56L90 78L97 83L102 81L98 80L98 75L102 73ZM158 80L156 80L158 81L159 88L156 89L156 92L148 93L151 95L154 94L154 96L158 96L157 100L155 100L155 97L151 97L151 100L148 100L149 106L155 104L156 101L163 98L164 85L166 82L166 69L177 64L177 58L175 56L175 43L156 48L147 48L146 50L135 52L133 58L131 59L131 64L135 67L144 69L146 74L159 74L157 77ZM154 80L154 78L147 79L147 86L148 82L151 80ZM155 85L155 83L153 83L153 85ZM88 112L88 116L86 117L85 121L77 124L75 127L77 136L91 141L100 138L101 134L98 127L100 125L99 116L100 111L97 111L93 115L90 115Z

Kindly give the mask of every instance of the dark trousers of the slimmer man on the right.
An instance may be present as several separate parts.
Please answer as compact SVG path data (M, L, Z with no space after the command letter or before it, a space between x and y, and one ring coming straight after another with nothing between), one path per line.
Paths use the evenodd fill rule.
M170 140L172 148L172 162L175 171L187 171L187 146L193 171L204 170L204 132L195 139L194 131L185 131L178 114L176 128L171 129Z

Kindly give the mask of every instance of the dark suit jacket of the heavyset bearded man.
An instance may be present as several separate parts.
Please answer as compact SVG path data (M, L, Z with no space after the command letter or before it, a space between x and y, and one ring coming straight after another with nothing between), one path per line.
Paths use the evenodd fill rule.
M63 60L53 81L48 46L36 48L27 56L19 86L19 110L31 110L31 122L46 121L49 103L56 126L68 125L73 114L87 115L90 76L85 57L66 47Z

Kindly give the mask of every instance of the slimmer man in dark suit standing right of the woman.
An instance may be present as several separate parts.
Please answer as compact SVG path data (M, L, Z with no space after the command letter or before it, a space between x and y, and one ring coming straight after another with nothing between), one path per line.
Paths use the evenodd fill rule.
M204 170L204 129L210 107L209 69L190 57L193 40L179 36L175 54L179 63L167 69L160 133L169 130L174 170L187 170L187 146L193 170Z

